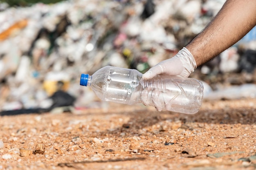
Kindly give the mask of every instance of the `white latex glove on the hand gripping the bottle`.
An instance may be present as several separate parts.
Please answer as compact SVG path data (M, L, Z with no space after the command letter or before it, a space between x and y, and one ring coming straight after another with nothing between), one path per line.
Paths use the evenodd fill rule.
M180 77L189 77L195 70L196 63L193 55L188 49L183 47L175 56L170 59L159 62L150 68L142 78L152 79L156 75L177 75Z

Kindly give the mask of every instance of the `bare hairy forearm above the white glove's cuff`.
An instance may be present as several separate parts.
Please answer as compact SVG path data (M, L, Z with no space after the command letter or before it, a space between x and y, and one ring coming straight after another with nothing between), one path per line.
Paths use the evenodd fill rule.
M256 25L256 0L227 0L220 12L186 48L197 66L229 48Z

